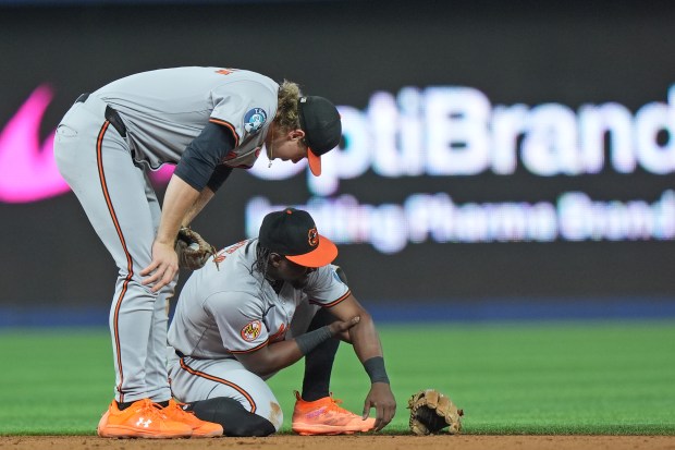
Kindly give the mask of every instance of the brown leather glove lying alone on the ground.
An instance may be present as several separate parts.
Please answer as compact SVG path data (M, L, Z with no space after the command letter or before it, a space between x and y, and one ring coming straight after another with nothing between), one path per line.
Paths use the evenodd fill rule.
M462 430L464 411L450 398L435 389L425 389L413 394L408 400L410 410L410 430L416 435L433 435L445 427L447 433L456 435Z

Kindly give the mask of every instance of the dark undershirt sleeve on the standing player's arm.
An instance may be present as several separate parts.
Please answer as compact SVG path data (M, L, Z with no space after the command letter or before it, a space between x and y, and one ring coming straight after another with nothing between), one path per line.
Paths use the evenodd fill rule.
M232 149L232 131L208 122L201 133L187 145L173 173L199 192L207 185L216 192L231 172L225 168L217 168Z

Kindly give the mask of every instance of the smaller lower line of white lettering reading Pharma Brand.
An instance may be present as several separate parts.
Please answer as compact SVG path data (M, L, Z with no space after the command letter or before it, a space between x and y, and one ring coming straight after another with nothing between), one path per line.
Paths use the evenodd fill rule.
M255 197L246 206L246 232L258 235L262 218L286 205ZM450 195L412 194L402 205L365 205L351 195L314 197L307 210L321 234L339 244L370 243L396 253L408 243L486 243L563 241L647 241L675 238L675 192L653 203L599 202L580 192L556 203L456 204Z

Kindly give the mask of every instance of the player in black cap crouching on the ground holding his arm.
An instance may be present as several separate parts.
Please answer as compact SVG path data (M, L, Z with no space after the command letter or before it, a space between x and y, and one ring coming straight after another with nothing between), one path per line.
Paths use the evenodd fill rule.
M228 436L270 435L283 414L265 380L305 356L294 431L352 434L391 422L396 401L380 339L331 264L336 256L309 214L286 208L265 217L258 239L224 248L189 277L169 328L171 387L186 410ZM329 393L335 338L353 344L370 377L363 416Z

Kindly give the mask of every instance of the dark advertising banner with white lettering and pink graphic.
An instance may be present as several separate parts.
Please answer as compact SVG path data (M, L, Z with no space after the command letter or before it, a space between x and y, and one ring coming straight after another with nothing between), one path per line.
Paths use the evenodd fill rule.
M78 94L179 65L296 81L342 117L320 178L235 171L194 223L217 246L291 205L372 302L673 297L675 7L272 3L0 8L2 301L108 302L53 132Z

